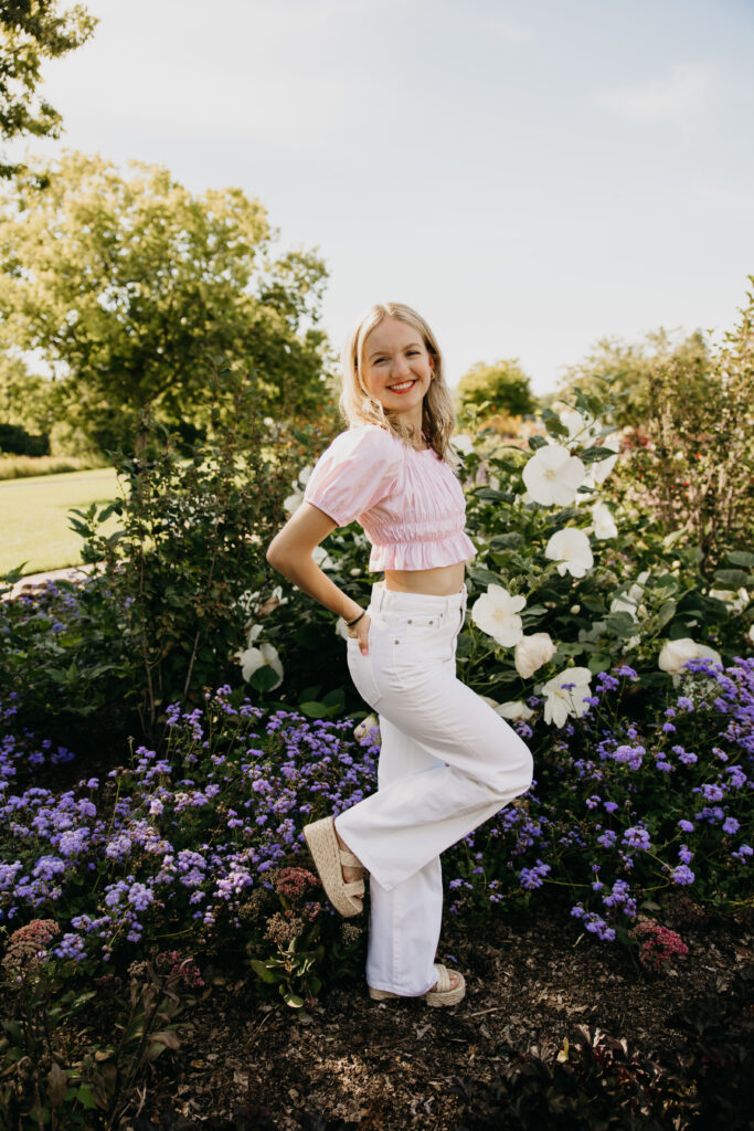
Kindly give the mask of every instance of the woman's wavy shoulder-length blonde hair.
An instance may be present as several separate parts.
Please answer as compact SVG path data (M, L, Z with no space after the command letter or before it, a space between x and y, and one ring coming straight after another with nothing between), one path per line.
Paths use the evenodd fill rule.
M375 326L385 318L397 318L407 322L422 335L424 346L434 362L432 381L422 404L422 431L430 447L451 467L457 467L459 458L450 446L450 438L456 429L456 409L450 389L445 385L442 354L434 334L410 307L402 302L375 303L358 320L356 328L348 336L343 349L343 391L339 407L349 428L359 424L379 424L389 429L405 443L414 438L414 430L404 424L400 417L385 412L379 400L372 397L361 378L364 364L364 345Z

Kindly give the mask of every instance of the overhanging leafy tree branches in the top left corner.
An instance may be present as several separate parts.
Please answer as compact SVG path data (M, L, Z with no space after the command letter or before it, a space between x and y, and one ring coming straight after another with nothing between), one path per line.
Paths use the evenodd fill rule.
M59 59L80 48L97 20L81 5L60 10L58 0L0 0L0 138L23 133L59 137L61 118L36 96L43 59ZM19 165L0 161L0 178Z

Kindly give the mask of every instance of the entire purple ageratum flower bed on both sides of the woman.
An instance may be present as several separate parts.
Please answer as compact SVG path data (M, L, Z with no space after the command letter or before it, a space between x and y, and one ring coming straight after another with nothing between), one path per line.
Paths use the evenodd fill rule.
M661 703L641 722L621 715L630 668L598 681L588 713L560 729L529 700L539 709L513 725L527 727L537 780L445 854L451 912L495 914L555 887L575 898L571 914L587 931L612 941L650 892L683 888L721 904L740 893L754 659L687 670L683 708ZM102 780L53 794L33 783L59 752L14 739L12 710L0 714L0 922L55 918L57 953L71 959L109 960L153 934L228 941L266 873L305 855L303 826L376 787L376 732L359 742L350 719L266 715L220 688L203 709L168 710L159 757L139 748Z

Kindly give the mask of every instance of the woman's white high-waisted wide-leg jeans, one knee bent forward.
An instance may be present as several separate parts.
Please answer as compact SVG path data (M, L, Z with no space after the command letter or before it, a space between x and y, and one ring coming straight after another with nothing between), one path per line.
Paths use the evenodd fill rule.
M378 792L336 819L370 872L366 981L418 996L437 981L440 853L531 785L515 731L456 676L466 586L448 597L372 587L369 654L348 640L348 670L379 713Z

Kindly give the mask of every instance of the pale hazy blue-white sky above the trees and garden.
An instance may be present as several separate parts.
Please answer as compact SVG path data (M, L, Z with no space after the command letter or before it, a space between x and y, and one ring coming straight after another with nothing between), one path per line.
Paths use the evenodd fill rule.
M87 0L62 147L239 185L317 249L336 349L373 302L454 385L554 389L600 338L733 328L754 274L754 0Z

